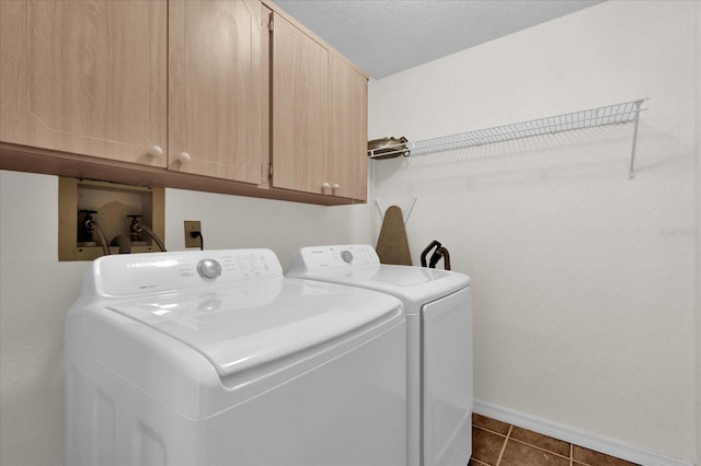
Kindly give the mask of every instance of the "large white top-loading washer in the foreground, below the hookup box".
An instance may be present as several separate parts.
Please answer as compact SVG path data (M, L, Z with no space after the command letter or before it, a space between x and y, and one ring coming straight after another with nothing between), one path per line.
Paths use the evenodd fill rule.
M67 465L405 462L401 302L271 251L96 259L65 342Z

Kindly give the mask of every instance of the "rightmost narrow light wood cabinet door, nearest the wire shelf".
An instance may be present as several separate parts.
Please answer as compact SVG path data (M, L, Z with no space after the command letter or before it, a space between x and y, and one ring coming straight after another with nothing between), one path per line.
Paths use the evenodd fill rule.
M366 200L368 81L335 55L330 58L330 68L332 193Z

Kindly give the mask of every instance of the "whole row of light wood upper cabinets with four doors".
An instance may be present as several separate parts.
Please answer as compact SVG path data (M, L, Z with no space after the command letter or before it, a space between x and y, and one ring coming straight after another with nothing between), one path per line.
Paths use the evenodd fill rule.
M367 77L269 7L0 0L1 166L365 200Z

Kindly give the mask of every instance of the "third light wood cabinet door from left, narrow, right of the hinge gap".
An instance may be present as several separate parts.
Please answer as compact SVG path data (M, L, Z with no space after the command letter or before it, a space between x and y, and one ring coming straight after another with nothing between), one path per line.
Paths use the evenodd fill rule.
M330 194L329 53L284 18L273 22L272 184Z

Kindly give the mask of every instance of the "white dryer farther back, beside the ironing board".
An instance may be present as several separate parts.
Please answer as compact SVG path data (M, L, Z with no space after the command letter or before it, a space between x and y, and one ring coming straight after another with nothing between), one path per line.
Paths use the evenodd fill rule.
M470 279L446 270L381 265L369 245L304 247L287 277L381 291L406 314L407 465L468 464L472 453Z

